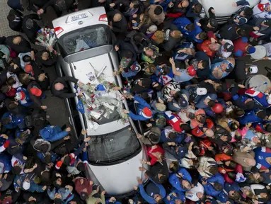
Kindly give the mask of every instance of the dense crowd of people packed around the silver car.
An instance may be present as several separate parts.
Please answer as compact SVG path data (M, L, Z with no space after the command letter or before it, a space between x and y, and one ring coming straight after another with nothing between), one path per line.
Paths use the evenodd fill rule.
M236 1L238 11L223 25L197 0L90 2L105 8L115 36L114 74L125 86L114 89L137 103L123 112L147 130L137 138L147 147L139 171L148 182L134 178L139 185L129 198L106 195L86 179L86 130L75 139L71 128L47 120L45 91L83 96L67 81L81 84L50 79L56 52L30 42L37 21L50 27L46 13L78 11L80 1L30 0L26 8L12 0L9 26L28 39L0 38L0 203L271 203L271 87L263 93L243 86L258 67L240 58L270 42L271 2ZM25 9L32 14L24 16Z

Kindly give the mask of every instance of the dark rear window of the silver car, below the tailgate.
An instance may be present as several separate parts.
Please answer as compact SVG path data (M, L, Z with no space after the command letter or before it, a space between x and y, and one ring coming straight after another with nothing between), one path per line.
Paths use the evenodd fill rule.
M110 29L105 25L88 26L62 35L58 40L62 56L67 56L102 45L109 45Z

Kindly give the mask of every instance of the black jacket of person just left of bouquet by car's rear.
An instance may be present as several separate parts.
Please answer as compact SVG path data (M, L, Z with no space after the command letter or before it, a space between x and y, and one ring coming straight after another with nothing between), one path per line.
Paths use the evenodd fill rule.
M28 29L25 25L28 19L39 20L39 16L33 13L33 14L23 17L23 32L25 32L25 35L28 37L28 39L31 42L35 43L35 38L37 38L37 32L38 30L40 30L40 26L38 26L38 23L33 21L33 28Z

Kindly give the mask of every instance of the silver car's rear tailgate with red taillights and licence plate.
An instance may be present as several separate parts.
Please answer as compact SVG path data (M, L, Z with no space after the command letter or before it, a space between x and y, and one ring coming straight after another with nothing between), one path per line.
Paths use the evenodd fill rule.
M108 21L106 18L105 8L96 7L61 16L57 19L54 19L52 24L54 26L54 30L56 31L57 38L60 38L62 35L79 28L97 24L108 25Z

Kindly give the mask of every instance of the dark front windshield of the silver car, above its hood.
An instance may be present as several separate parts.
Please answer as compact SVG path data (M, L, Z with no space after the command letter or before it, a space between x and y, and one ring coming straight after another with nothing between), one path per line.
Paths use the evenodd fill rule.
M92 164L125 162L141 149L129 125L106 135L91 136L89 144L88 162Z

